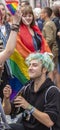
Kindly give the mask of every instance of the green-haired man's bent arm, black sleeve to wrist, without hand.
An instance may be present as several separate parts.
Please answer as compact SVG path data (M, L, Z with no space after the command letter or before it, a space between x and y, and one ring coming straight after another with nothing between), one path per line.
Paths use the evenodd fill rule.
M59 92L56 88L52 88L47 95L47 103L44 112L35 108L33 116L47 127L51 127L56 123L59 113Z

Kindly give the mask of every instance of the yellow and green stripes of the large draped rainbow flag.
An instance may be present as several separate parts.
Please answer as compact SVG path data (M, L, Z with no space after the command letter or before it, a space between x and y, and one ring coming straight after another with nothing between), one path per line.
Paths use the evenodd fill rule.
M14 54L10 57L10 65L13 75L15 75L20 80L20 82L24 84L26 80L29 79L27 65L25 64L22 55L19 54L16 49L14 51Z

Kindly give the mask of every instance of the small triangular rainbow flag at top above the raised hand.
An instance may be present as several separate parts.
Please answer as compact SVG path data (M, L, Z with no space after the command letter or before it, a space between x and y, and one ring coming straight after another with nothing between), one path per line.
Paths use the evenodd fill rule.
M12 15L14 15L18 8L18 0L5 0L5 2L8 10L11 12Z

